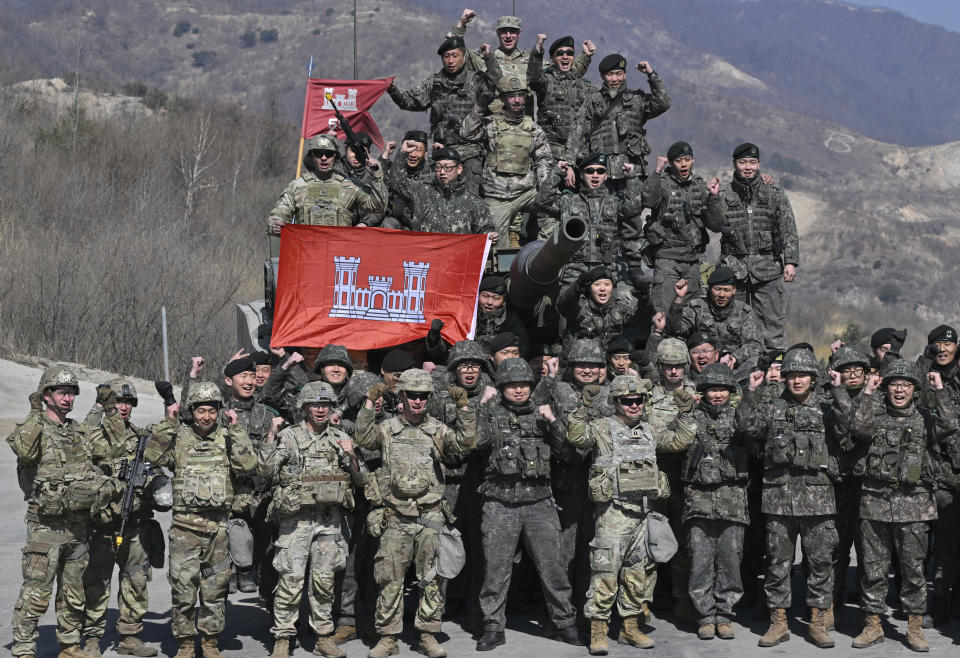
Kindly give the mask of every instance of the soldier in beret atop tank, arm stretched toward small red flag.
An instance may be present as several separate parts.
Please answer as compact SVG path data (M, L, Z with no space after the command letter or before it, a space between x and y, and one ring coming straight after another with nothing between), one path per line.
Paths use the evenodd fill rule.
M448 36L437 48L443 68L410 90L395 83L387 87L387 94L401 110L423 112L430 110L430 142L427 146L456 147L463 158L463 177L466 189L473 195L480 191L480 147L460 137L460 125L481 95L489 92L500 79L500 70L492 52L483 56L481 71L465 66L466 46L463 35ZM489 74L485 73L489 69Z

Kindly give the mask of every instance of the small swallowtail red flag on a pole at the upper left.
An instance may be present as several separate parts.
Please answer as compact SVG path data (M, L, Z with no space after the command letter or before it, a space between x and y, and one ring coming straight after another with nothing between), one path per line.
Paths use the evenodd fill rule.
M335 130L338 139L344 139L343 131L337 124L337 116L326 99L329 92L333 95L333 102L343 117L350 122L354 132L362 131L370 135L370 139L381 150L383 137L369 110L377 99L387 90L393 78L378 78L376 80L321 80L307 78L307 98L303 104L303 125L300 136L309 139L317 133Z

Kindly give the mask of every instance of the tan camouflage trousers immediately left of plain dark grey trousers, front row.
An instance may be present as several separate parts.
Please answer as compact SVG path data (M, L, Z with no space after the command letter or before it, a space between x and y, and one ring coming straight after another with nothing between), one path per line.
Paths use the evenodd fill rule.
M374 618L377 634L399 635L403 630L403 581L411 564L421 588L414 626L428 633L440 632L443 579L436 575L436 566L443 524L439 506L424 510L419 519L388 514L373 561L373 576L380 588ZM433 577L427 579L431 573Z

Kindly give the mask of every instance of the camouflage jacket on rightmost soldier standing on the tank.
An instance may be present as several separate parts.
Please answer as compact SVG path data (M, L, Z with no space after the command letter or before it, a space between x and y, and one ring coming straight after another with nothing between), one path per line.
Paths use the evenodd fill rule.
M722 235L717 265L731 268L741 281L772 281L782 276L784 264L800 264L790 200L760 174L746 182L735 176L719 194L708 194L706 225Z

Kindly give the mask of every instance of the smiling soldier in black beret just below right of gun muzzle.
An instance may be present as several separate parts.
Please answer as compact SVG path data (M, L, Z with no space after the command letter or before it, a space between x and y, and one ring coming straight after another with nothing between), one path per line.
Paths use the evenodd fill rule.
M591 338L605 345L628 328L637 299L629 287L615 288L610 268L598 265L560 291L557 310L567 321L565 348L577 338Z

